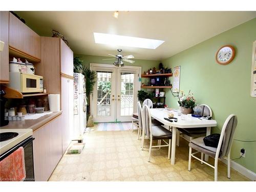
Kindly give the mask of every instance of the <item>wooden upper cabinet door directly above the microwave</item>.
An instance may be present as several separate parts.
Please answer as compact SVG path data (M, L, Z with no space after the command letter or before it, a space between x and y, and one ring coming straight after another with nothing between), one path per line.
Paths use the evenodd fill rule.
M40 36L12 13L10 13L9 23L9 46L12 50L41 59Z

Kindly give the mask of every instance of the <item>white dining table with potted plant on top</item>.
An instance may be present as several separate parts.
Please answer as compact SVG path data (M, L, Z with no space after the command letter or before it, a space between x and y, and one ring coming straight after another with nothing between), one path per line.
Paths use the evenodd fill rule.
M181 116L178 116L178 111L168 111L166 109L150 109L151 116L163 123L164 125L168 127L172 127L172 151L171 151L171 157L170 157L170 163L172 165L175 164L175 150L176 150L176 133L177 128L195 128L195 127L207 127L206 129L206 136L210 135L211 127L217 126L216 120L207 120L202 118L196 118L196 117L188 117L187 115L183 116L185 117L185 120L181 120ZM177 122L173 121L167 121L164 118L168 118L169 113L173 113L174 117L177 118ZM174 119L173 119L174 120ZM205 160L208 161L208 155L205 155Z

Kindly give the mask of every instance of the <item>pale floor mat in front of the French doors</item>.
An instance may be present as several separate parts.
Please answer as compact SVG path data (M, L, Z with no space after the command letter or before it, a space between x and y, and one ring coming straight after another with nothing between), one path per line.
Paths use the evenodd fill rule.
M97 131L124 131L124 130L132 130L132 123L98 123L95 124ZM134 127L134 129L136 129Z

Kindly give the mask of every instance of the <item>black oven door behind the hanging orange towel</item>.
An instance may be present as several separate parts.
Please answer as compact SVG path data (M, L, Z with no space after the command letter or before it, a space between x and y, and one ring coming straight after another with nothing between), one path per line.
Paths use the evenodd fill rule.
M0 156L0 161L8 157L11 153L16 151L20 146L24 148L24 158L25 158L25 169L26 169L26 178L24 181L35 181L34 176L34 160L33 160L33 140L35 138L28 137L24 141L20 142L9 151L5 152Z

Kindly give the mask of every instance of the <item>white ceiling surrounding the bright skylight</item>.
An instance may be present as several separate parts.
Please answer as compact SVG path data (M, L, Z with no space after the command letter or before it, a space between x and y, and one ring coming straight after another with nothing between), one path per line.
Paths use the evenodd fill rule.
M254 12L226 11L129 11L118 19L107 11L30 11L16 12L41 36L52 29L69 41L77 54L107 56L121 48L123 55L136 59L161 60L256 17ZM157 49L141 49L95 44L93 33L111 33L164 40Z

